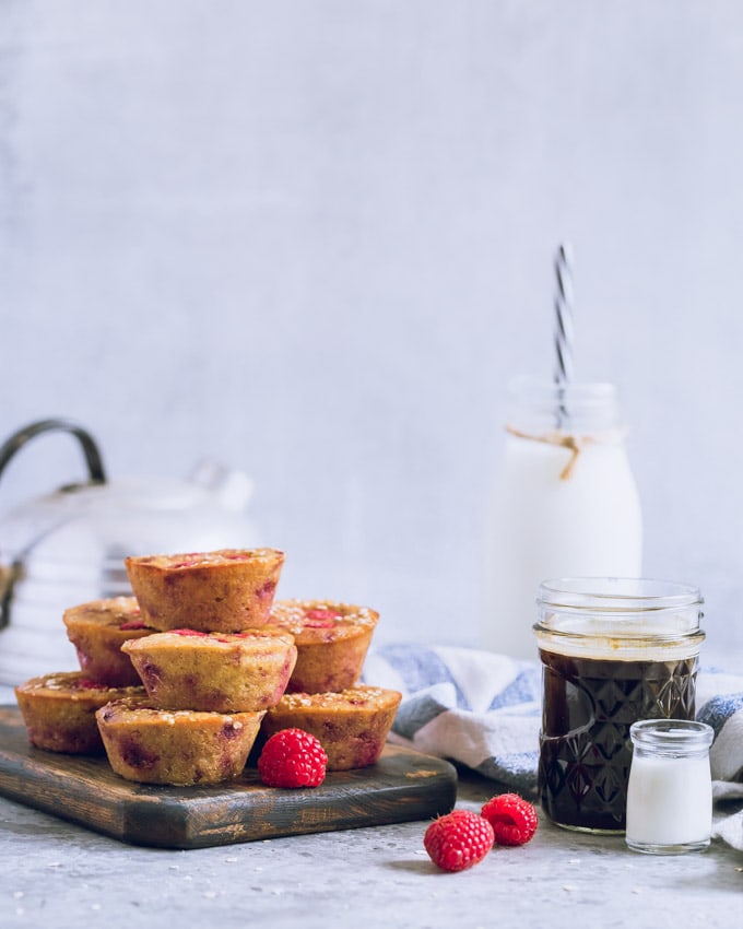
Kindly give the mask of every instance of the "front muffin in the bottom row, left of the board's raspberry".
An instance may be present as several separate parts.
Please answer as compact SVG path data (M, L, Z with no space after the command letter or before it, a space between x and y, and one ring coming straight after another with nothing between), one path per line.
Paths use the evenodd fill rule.
M263 715L158 709L144 697L108 703L96 718L116 774L141 784L190 786L239 777Z

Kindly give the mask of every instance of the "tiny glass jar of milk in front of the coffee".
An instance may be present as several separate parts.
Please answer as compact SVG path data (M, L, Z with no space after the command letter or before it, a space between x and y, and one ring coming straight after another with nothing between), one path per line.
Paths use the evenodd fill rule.
M642 719L629 729L633 760L625 840L635 851L701 851L712 831L711 726Z

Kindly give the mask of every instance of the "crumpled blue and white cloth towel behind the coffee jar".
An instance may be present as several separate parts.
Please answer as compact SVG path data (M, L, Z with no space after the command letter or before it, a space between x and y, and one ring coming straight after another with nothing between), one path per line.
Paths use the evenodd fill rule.
M390 741L450 759L535 797L542 684L536 661L471 648L387 645L369 654L366 683L402 693ZM715 835L743 849L743 677L703 669L698 718L710 752Z

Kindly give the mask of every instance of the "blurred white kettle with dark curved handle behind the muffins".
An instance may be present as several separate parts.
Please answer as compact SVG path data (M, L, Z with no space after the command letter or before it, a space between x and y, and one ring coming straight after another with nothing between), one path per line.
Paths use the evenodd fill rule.
M35 436L75 436L87 480L0 514L0 683L78 670L62 612L78 603L131 595L123 558L131 554L255 548L246 515L252 482L203 461L184 480L109 481L98 447L80 425L43 420L0 446L0 475Z

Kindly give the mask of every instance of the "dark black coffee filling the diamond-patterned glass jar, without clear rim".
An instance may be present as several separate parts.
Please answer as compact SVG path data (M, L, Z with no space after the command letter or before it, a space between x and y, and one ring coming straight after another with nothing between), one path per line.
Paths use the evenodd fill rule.
M559 825L623 832L629 727L638 719L694 719L698 657L622 661L540 649L540 658L542 807Z

